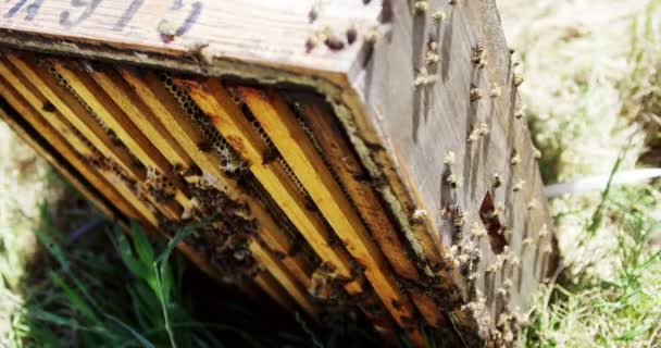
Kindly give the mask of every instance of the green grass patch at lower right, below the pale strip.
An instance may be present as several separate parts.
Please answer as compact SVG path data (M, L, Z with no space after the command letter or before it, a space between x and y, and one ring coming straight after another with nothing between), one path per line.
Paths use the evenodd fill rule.
M661 223L649 212L659 187L615 188L586 221L590 238L596 221L615 226L615 248L586 256L582 270L565 272L536 301L522 344L527 347L659 347L661 336ZM613 275L594 277L585 266L614 258ZM575 266L575 265L570 265Z

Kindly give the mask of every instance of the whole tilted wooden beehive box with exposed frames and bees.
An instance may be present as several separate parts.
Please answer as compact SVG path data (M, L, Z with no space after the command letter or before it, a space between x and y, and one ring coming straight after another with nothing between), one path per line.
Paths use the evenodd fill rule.
M498 13L464 1L5 1L2 117L224 282L511 345L556 247Z

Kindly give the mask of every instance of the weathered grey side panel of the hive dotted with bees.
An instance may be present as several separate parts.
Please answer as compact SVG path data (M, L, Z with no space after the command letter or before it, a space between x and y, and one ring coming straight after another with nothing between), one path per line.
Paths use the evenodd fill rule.
M389 184L403 211L411 216L424 210L441 249L457 237L447 207L466 212L464 235L472 226L483 227L479 210L487 194L501 209L499 220L507 226L502 232L509 254L516 258L514 266L506 262L502 272L489 276L487 269L503 257L483 238L475 271L477 288L496 318L506 303L511 309L529 306L547 274L545 262L552 246L537 153L525 116L516 116L522 108L515 86L521 76L511 65L492 1L425 3L420 10L413 2L392 2L391 28L377 42L373 61L357 62L352 69L358 95L347 94L345 100L353 107L352 126L360 141L371 144L367 161L382 173L395 173ZM435 21L440 13L442 20ZM478 45L486 52L482 67L473 61ZM367 105L366 114L361 114L360 104ZM374 150L375 144L383 151ZM456 160L448 164L450 152ZM460 182L456 189L448 183L451 174ZM499 186L494 185L495 175ZM503 287L511 288L509 300L497 300Z

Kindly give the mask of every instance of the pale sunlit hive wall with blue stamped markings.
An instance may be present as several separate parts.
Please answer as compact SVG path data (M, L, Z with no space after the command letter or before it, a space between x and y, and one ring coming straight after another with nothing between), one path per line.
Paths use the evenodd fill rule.
M316 0L14 0L0 4L4 32L0 41L20 44L12 36L24 37L24 44L43 38L39 46L55 51L70 49L71 44L80 49L87 42L99 50L102 42L105 51L192 57L200 63L232 58L330 76L328 72L346 70L361 50L358 42L347 42L349 28L354 27L361 40L362 33L376 25L381 5L351 0L319 4ZM313 8L317 9L314 21ZM12 35L5 35L10 30ZM324 45L323 38L309 49L309 39L324 32L345 41L342 49Z

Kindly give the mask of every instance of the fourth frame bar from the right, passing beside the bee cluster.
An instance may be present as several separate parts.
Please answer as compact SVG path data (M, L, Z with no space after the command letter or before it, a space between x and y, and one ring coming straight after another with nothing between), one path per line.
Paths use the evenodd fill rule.
M216 188L225 191L233 200L245 201L248 203L252 216L259 224L258 231L263 240L270 248L289 254L292 250L291 241L280 231L273 221L271 215L264 211L264 208L253 198L241 194L237 183L228 178L226 174L220 170L219 158L211 153L201 151L198 145L203 141L199 129L196 129L189 117L185 115L180 107L174 100L164 86L158 80L153 73L146 73L142 76L136 76L127 70L121 70L121 75L126 79L137 96L151 110L157 117L172 134L176 134L176 141L189 156L195 164L197 164L204 173L209 173L219 181L213 183ZM303 286L310 285L310 274L312 268L310 262L302 256L286 257L283 260L285 266L291 271Z

